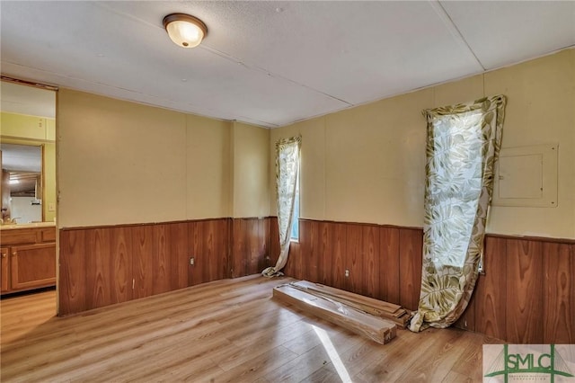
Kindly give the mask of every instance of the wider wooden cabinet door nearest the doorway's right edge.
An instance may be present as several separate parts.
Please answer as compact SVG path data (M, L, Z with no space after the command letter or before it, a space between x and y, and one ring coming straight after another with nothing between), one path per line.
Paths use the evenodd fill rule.
M13 246L12 289L32 289L56 284L56 244Z

